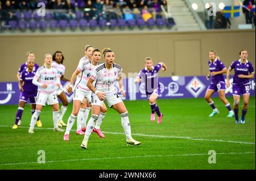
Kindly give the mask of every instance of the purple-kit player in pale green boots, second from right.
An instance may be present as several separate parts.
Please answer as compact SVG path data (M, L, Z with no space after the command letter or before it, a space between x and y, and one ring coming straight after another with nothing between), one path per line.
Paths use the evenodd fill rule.
M216 106L214 105L213 100L210 98L214 92L218 91L218 95L220 96L221 101L225 104L226 108L229 111L229 114L227 117L234 116L234 112L232 111L232 108L230 106L230 103L225 97L225 78L224 73L226 73L226 67L225 65L220 61L219 57L216 57L216 52L210 51L209 52L209 74L207 75L207 79L209 80L211 78L211 83L208 86L207 91L205 92L205 100L207 100L210 107L212 107L213 111L210 113L209 117L213 117L217 113L220 113Z

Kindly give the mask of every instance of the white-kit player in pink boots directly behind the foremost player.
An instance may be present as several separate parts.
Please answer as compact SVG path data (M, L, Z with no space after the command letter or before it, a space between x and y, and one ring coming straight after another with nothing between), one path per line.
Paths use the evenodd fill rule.
M75 70L75 72L72 75L70 85L67 90L69 92L69 94L71 94L71 92L72 92L73 82L74 82L77 74L79 74L80 72L82 73L81 78L80 78L79 82L77 83L77 85L75 87L74 94L73 94L73 110L72 110L72 114L69 116L69 119L68 119L68 125L66 128L66 132L64 134L64 141L69 141L69 132L71 131L71 128L73 127L73 124L75 123L76 116L79 112L79 107L80 107L81 103L84 101L84 98L86 98L86 100L88 102L90 102L90 100L91 100L92 91L90 91L88 89L86 84L90 77L90 74L92 74L92 71L99 65L100 59L101 59L100 50L94 49L93 53L92 53L92 60L85 60L84 62L80 62L80 64L77 66L77 69ZM94 129L94 132L96 132L98 134L98 136L100 136L102 138L104 138L105 136L100 131L100 125L105 117L106 110L107 109L104 104L100 110L100 116L98 117L98 120L97 120L98 127L96 129ZM78 121L79 120L77 119L77 122ZM80 124L77 124L76 132L79 132L81 130L81 125L80 125L80 127L79 127L79 125Z

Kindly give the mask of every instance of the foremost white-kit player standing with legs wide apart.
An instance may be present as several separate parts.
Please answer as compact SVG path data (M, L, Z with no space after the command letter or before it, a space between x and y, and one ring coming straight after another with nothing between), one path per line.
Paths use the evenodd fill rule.
M82 141L81 148L86 149L89 136L93 131L94 125L98 117L100 116L100 110L103 102L107 102L109 107L113 107L121 115L122 127L125 131L126 142L131 145L139 145L141 142L136 141L131 137L131 127L128 117L128 112L126 110L125 104L123 104L122 99L115 92L115 82L119 82L119 89L122 92L122 96L125 96L125 91L122 86L122 68L118 64L114 64L115 59L114 52L110 49L104 52L105 63L99 65L93 70L92 74L87 83L87 87L94 92L92 94L92 116L88 121L84 140ZM95 87L93 82L97 79Z

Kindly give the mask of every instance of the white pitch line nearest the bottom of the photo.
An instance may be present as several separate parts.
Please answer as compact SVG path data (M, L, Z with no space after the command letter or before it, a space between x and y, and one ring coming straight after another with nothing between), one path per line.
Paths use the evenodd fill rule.
M255 154L255 152L243 152L243 153L216 153L216 155L237 155L237 154ZM94 160L105 160L105 159L130 159L130 158L150 158L150 157L191 157L191 156L200 156L200 155L209 155L207 153L193 153L193 154L168 154L168 155L138 155L132 157L105 157L105 158L83 158L83 159L64 159L56 161L46 161L46 163L57 163L57 162L81 162L81 161L94 161ZM20 162L20 163L0 163L0 166L5 165L27 165L27 164L36 164L38 162Z

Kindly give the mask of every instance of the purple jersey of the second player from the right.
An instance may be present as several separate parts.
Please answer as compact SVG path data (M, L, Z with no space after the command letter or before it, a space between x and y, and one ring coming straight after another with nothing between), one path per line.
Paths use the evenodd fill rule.
M210 72L221 71L221 70L225 69L225 65L217 58L214 60L213 63L212 63L212 61L209 61L208 64L209 64ZM223 74L217 74L217 75L210 76L210 77L212 79L212 83L214 83L214 84L218 83L218 82L225 82L225 78L224 78Z

